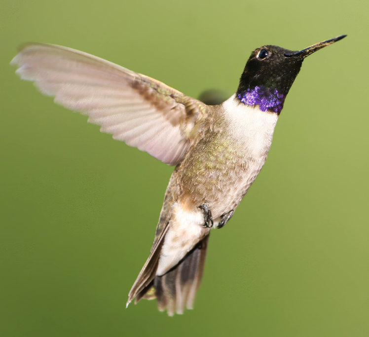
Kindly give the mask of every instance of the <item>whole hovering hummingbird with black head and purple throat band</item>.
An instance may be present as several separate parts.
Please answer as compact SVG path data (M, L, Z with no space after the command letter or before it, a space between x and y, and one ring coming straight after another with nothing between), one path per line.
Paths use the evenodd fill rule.
M258 176L303 60L344 37L300 51L255 49L237 91L218 105L78 50L44 43L20 48L11 65L22 79L87 115L113 139L175 165L127 306L134 299L156 299L170 316L193 307L210 230L227 224Z

